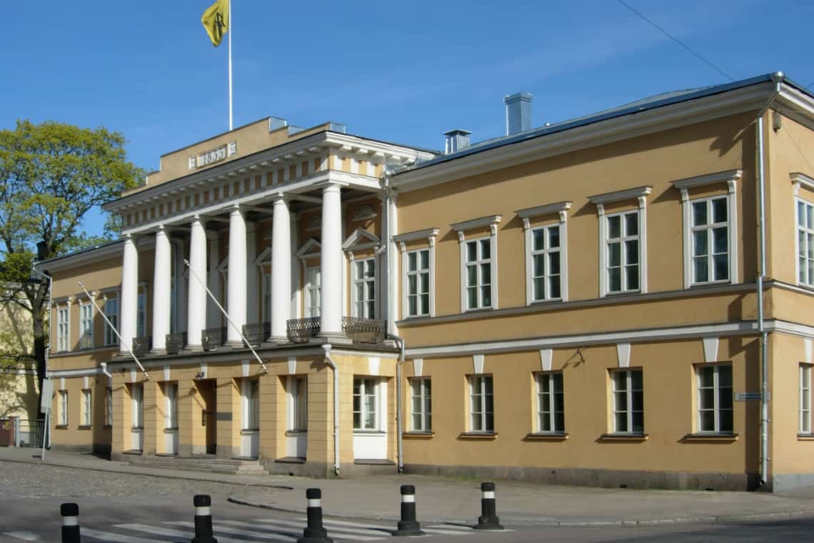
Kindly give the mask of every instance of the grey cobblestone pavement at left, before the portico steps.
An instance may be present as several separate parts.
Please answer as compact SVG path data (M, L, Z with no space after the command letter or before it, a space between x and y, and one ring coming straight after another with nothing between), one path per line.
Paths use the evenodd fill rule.
M0 462L0 488L6 497L147 497L210 494L226 497L243 487L207 481L164 479L109 471Z

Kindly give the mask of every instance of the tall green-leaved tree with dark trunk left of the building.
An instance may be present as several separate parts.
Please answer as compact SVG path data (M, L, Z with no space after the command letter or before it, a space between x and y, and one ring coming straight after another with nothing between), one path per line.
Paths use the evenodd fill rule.
M48 282L32 279L35 255L52 258L112 239L109 230L101 238L88 236L82 221L94 206L138 185L139 178L142 171L127 160L125 137L118 132L28 120L0 130L0 281L14 285L7 291L10 301L31 312L40 390Z

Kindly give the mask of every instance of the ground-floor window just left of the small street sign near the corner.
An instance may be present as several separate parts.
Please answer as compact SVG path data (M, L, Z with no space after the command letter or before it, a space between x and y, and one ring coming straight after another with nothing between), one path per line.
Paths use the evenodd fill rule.
M698 431L732 433L732 366L696 366Z

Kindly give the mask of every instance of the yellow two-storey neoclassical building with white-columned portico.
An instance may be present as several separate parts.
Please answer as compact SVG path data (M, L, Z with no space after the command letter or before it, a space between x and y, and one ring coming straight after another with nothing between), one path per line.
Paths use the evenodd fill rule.
M41 265L54 445L814 484L812 95L772 74L539 129L531 103L444 152L269 118L162 156L107 204L123 239Z

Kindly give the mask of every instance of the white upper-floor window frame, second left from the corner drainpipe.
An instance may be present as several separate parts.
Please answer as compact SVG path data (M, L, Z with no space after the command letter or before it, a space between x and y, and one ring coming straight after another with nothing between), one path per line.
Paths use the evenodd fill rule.
M608 192L602 195L589 196L589 202L597 206L597 219L599 223L599 297L619 294L630 294L639 292L645 294L647 292L647 196L653 191L652 186L637 186L636 188L626 190L616 190L615 192ZM607 217L614 217L615 215L634 212L628 209L624 212L605 214L606 204L615 204L617 202L624 202L625 200L636 200L638 204L639 213L639 288L630 291L614 291L610 292L608 286L608 273L607 273ZM623 261L624 269L624 261ZM623 283L624 284L624 283Z

